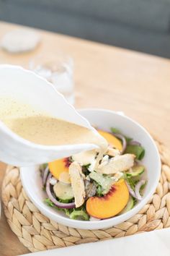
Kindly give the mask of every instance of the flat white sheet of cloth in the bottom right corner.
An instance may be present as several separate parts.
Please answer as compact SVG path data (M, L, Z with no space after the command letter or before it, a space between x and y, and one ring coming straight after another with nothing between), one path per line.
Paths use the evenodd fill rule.
M170 229L161 229L104 242L80 244L73 247L35 252L34 256L169 256ZM30 255L30 254L27 254ZM27 256L24 255L24 256Z

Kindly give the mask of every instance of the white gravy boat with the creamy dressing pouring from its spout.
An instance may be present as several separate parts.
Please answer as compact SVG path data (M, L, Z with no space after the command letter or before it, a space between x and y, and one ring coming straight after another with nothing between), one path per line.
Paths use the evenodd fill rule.
M1 151L1 145L1 161L26 166L91 149L96 149L98 158L102 158L107 150L107 141L66 102L53 85L20 67L2 66L0 137L4 150ZM5 73L8 75L1 76ZM29 78L35 81L34 85L29 83ZM1 87L2 82L4 87ZM43 87L41 85L40 88L40 84ZM37 102L35 105L36 93L40 104ZM45 102L46 99L48 102ZM45 108L49 103L51 107L48 105Z

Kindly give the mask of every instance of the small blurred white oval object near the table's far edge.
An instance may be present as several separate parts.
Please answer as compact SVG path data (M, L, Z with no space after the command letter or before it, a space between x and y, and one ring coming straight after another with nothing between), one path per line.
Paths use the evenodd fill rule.
M12 30L4 35L1 47L11 53L33 50L40 42L40 35L35 30Z

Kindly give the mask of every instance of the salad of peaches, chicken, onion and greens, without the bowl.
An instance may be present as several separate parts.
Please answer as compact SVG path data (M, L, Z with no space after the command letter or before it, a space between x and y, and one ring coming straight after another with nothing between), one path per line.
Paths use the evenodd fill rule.
M97 150L90 150L40 166L44 202L71 219L111 218L128 212L143 197L143 146L117 128L98 132L108 142L98 164Z

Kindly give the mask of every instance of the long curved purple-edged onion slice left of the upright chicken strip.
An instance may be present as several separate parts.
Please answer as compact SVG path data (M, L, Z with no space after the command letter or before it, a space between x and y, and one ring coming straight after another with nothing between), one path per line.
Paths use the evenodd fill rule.
M53 202L53 204L56 205L58 208L65 208L65 209L75 208L76 205L74 202L63 203L63 202L59 202L58 200L55 199L55 197L53 197L53 195L50 191L50 178L51 177L52 177L52 175L49 174L47 182L46 182L46 192L47 192L48 197L50 198L51 202Z

